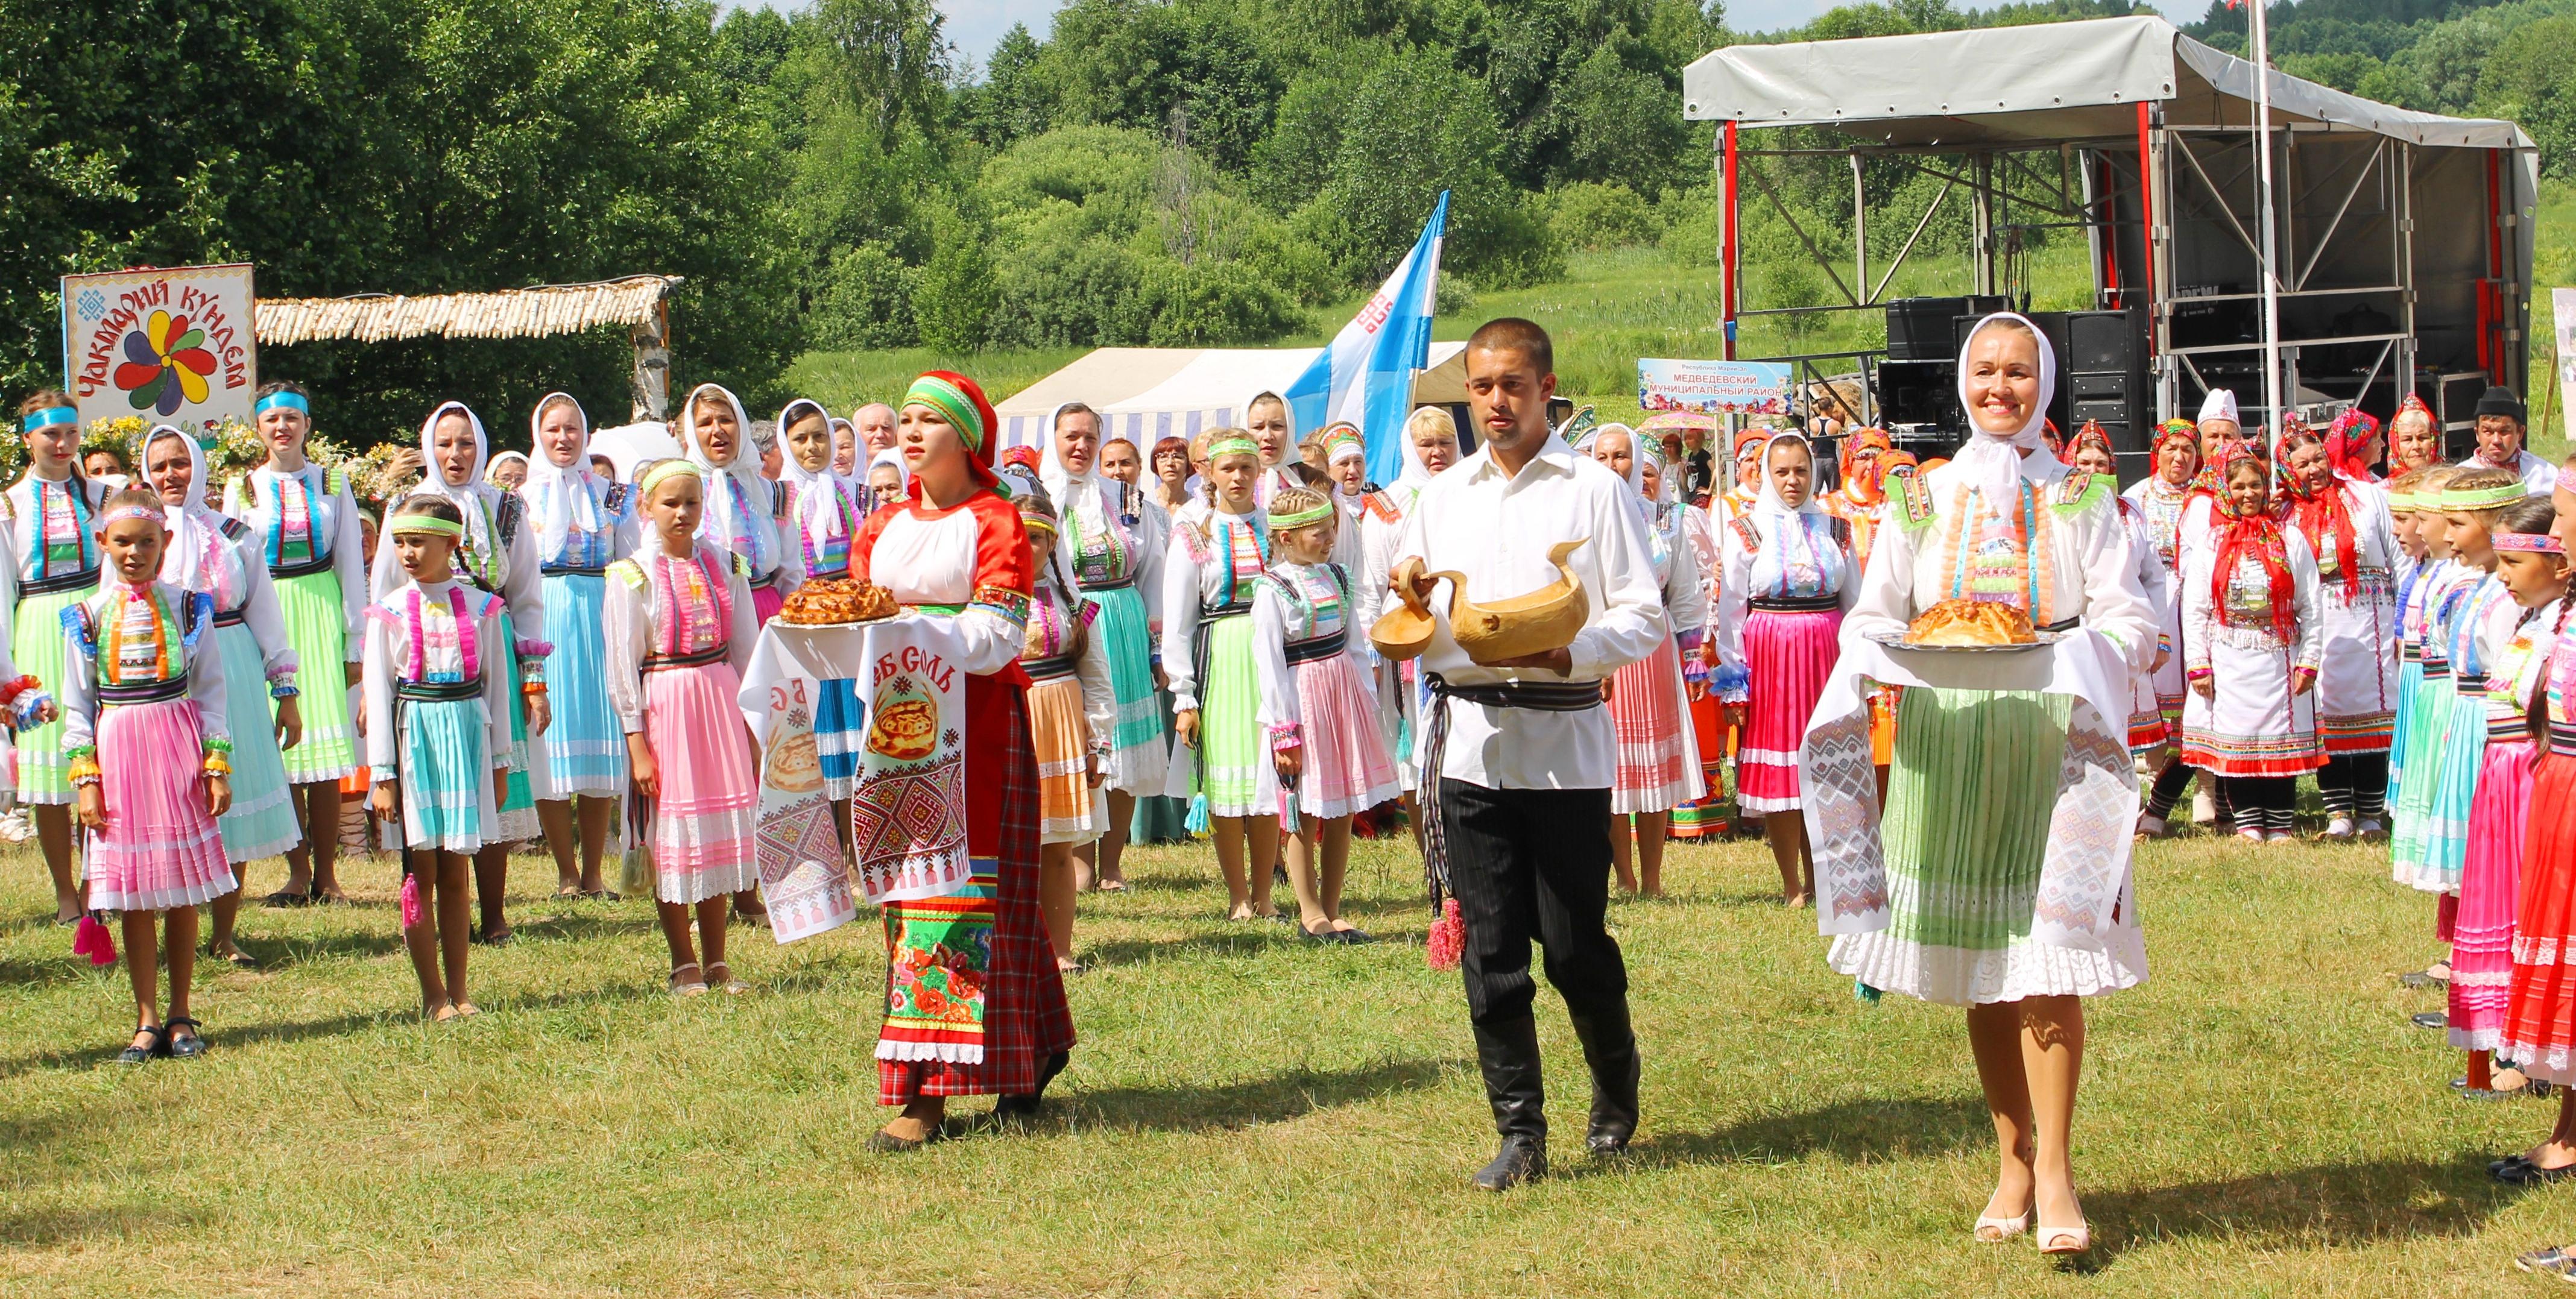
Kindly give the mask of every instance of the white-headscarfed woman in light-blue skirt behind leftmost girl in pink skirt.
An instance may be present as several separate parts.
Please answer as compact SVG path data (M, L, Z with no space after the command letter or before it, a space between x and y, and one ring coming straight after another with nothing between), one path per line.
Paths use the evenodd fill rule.
M216 817L216 830L224 835L224 861L240 879L242 863L304 843L296 802L286 789L286 760L278 758L281 740L291 747L304 735L304 717L296 711L296 647L286 639L260 536L206 508L206 451L196 438L155 425L144 433L137 482L162 497L170 526L162 580L214 598L214 642L224 657L224 711L232 724L232 807ZM265 683L265 691L252 691L252 683ZM276 698L276 722L263 693ZM255 964L232 943L245 892L234 887L209 907L214 933L206 951L237 967Z

